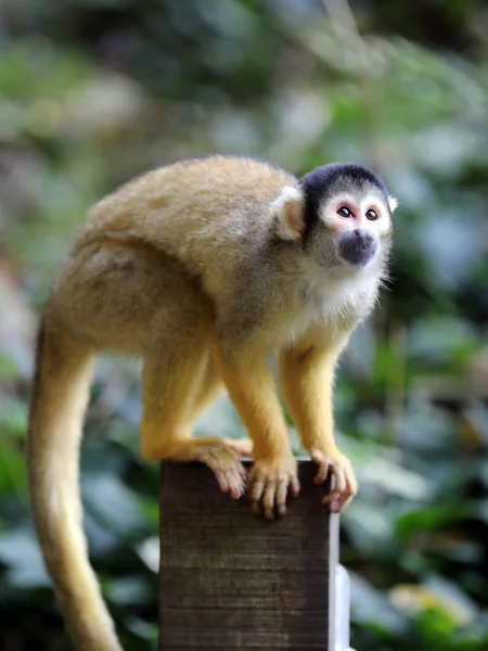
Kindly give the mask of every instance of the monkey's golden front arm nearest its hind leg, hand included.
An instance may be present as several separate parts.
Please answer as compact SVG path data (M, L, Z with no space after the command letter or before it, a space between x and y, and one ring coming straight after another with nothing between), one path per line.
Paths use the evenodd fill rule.
M249 349L224 354L217 344L213 356L229 395L253 441L254 464L249 475L254 510L260 506L267 519L274 510L283 515L288 488L298 495L299 483L286 422L266 355Z

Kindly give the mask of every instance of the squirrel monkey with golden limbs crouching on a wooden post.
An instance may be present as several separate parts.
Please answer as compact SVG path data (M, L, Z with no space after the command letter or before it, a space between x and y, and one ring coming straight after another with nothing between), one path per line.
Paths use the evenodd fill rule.
M162 167L95 204L61 267L42 319L29 417L33 510L76 648L120 651L81 528L79 445L101 350L143 360L141 450L202 461L232 498L285 512L297 467L268 358L304 447L335 487L357 492L333 434L334 367L376 302L396 200L372 171L320 167L301 179L248 158ZM194 438L222 385L251 441Z

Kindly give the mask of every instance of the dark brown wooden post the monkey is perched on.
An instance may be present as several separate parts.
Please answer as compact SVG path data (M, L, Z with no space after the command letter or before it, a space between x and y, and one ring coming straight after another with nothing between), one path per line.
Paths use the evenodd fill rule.
M159 651L333 651L338 516L317 467L283 520L253 516L197 463L162 467Z

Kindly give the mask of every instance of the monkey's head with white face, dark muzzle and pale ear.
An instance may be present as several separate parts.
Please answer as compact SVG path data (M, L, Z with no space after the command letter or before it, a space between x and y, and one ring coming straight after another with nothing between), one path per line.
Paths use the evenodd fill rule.
M321 266L346 272L384 267L397 200L370 169L324 165L284 188L273 207L279 235L299 242Z

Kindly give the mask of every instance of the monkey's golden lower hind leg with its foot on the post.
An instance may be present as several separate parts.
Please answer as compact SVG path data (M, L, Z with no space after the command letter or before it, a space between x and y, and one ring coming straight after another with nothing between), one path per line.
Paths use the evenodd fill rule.
M249 448L218 437L191 436L197 412L216 395L217 386L208 384L207 363L205 333L189 332L188 323L172 331L171 342L151 346L142 374L142 456L152 461L201 461L214 472L221 490L237 499L245 488L240 456Z

